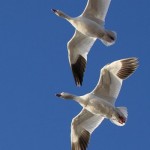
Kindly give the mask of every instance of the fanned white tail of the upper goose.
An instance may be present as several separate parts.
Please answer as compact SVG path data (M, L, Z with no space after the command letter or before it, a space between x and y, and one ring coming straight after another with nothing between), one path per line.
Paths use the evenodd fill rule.
M109 30L106 30L105 32L106 34L101 39L102 43L105 44L106 46L113 45L117 39L117 33Z

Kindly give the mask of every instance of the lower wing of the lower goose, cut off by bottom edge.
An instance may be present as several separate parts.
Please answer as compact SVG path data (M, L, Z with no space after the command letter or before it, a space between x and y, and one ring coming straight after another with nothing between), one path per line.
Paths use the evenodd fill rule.
M94 115L82 109L72 120L71 124L71 146L72 150L86 150L90 135L100 125L104 117Z

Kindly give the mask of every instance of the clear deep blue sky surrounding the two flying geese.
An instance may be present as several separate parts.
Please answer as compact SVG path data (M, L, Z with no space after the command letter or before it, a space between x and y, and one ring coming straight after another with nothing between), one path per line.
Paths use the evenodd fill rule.
M116 31L118 39L111 47L95 42L83 86L77 88L66 48L74 28L50 9L75 17L86 3L0 1L0 150L69 150L71 120L81 106L55 93L86 94L105 64L133 56L140 66L123 83L116 102L128 108L127 124L118 127L104 120L92 134L89 150L150 148L150 1L111 1L105 27Z

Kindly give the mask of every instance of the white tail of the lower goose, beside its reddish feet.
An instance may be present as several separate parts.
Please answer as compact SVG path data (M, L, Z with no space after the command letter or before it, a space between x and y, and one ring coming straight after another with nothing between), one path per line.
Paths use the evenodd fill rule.
M111 118L110 121L117 126L124 126L126 124L127 117L128 117L127 108L126 107L117 107L117 109L121 112L122 115L120 115L118 117L118 119Z

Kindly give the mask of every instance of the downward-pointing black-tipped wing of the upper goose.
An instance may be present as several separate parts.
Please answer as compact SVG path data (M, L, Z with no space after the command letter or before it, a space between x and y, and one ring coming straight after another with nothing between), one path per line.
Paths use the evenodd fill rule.
M67 43L69 63L77 86L82 85L87 55L95 40L96 38L87 37L76 30Z

